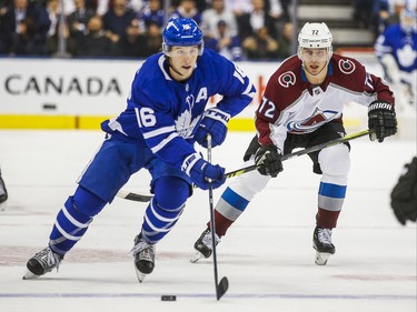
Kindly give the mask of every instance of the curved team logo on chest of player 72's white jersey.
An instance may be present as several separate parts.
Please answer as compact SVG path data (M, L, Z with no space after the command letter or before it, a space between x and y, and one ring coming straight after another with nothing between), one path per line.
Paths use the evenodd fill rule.
M296 133L309 133L317 130L324 123L329 122L337 115L337 111L322 111L318 108L312 112L312 114L300 121L291 121L287 124L287 130L289 132Z

